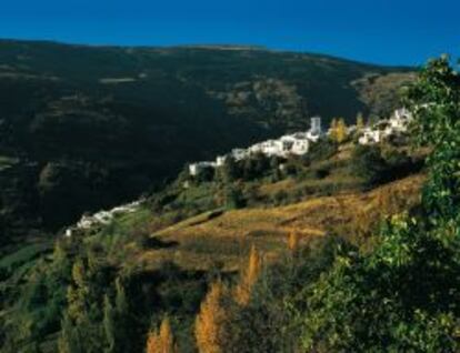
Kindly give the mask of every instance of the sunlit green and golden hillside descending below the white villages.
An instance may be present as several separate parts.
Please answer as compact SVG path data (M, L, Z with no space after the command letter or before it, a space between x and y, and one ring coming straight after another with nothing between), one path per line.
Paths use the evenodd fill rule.
M290 256L291 234L299 236L301 249L321 248L333 236L363 251L373 249L381 220L419 204L424 153L401 159L396 157L407 155L406 149L386 147L387 163L380 171L390 179L371 185L353 169L352 142L320 157L319 151L330 148L327 141L321 144L311 152L317 160L292 158L283 174L278 165L233 181L218 173L208 181L182 173L109 224L11 248L0 261L0 323L6 327L0 342L6 352L18 346L23 352L57 351L59 331L64 330L61 310L71 300L69 283L78 281L77 271L88 273L82 297L88 303L102 293L111 295L112 281L123 279L137 330L127 352L141 350L142 332L162 313L176 317L181 352L196 352L190 330L207 288L216 278L234 281L251 246L267 264L280 263L281 269ZM241 191L244 205L233 204L233 191ZM80 260L88 262L76 270Z

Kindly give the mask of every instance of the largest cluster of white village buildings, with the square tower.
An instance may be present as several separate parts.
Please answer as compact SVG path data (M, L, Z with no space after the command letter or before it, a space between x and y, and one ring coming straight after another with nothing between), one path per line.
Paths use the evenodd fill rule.
M308 152L311 142L317 142L322 134L321 118L313 117L311 118L310 130L307 132L296 132L283 135L277 140L259 142L248 149L233 149L226 155L219 155L216 161L191 163L189 165L189 173L190 175L197 175L203 169L222 167L227 158L233 158L236 161L240 161L257 153L262 153L267 157L276 155L282 158L290 154L302 155Z

